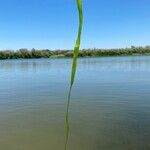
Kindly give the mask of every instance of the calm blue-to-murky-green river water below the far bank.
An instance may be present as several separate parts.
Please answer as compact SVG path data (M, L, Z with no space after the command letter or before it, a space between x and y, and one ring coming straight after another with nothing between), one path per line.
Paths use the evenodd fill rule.
M0 150L63 150L71 59L0 61ZM150 150L150 57L79 59L69 150Z

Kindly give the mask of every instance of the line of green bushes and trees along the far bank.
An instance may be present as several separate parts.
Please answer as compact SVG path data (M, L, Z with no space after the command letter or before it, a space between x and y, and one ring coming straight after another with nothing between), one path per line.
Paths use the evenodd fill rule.
M150 55L150 46L120 48L120 49L83 49L79 52L79 57L101 57L101 56L127 56L127 55ZM57 58L72 57L72 50L28 50L19 49L17 51L0 51L0 59L29 59L29 58Z

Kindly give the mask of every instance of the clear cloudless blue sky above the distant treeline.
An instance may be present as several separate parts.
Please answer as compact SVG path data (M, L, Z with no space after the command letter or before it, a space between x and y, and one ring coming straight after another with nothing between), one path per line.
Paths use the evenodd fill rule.
M150 45L150 0L83 0L81 48ZM0 49L73 49L76 0L0 0Z

